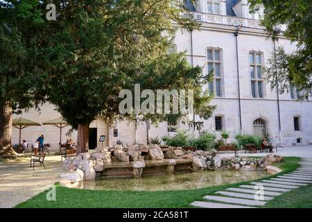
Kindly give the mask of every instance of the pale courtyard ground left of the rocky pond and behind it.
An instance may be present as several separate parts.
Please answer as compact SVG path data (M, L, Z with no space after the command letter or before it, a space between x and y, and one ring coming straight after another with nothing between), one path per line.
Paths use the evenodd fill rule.
M277 154L312 158L312 146L278 148ZM233 153L222 154L222 156L231 155ZM264 156L268 155L268 153L240 152L239 155ZM14 207L44 191L49 185L60 181L58 175L63 171L60 155L48 155L44 162L46 169L43 169L43 167L37 164L35 170L29 167L29 160L22 162L0 162L0 207Z

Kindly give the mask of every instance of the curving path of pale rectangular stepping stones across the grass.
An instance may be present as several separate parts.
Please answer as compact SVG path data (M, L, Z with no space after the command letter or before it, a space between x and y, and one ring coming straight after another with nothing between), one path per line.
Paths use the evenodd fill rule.
M300 162L300 167L291 173L216 191L214 194L204 196L204 200L195 201L191 205L202 208L261 207L275 196L309 184L312 184L312 159L306 158Z

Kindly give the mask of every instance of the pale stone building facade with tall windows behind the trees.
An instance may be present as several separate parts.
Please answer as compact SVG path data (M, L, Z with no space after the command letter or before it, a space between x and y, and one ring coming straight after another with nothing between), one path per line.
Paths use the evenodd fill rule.
M293 87L291 92L277 94L277 89L266 83L262 70L278 46L291 53L296 49L295 43L282 36L273 42L260 24L263 10L251 14L248 0L198 0L195 6L191 3L187 6L201 26L195 31L179 29L175 49L186 52L190 64L199 65L206 74L214 71L214 78L205 89L214 94L211 105L216 105L216 110L210 119L196 117L196 121L203 122L202 130L217 134L227 130L232 138L239 132L259 136L268 133L272 142L281 146L311 144L312 103L297 101L300 92ZM23 117L44 122L60 114L53 105L46 104L40 113L30 110ZM183 121L177 126L196 133ZM161 138L170 134L167 122L159 126L149 126L146 122L139 122L137 127L128 122L107 126L101 117L90 128L94 146L102 146L101 135L105 135L103 146L107 146L117 139L123 144L146 143L147 135ZM63 138L67 137L67 130L63 130ZM41 134L45 135L46 143L58 148L60 133L53 126L25 128L22 139L33 142ZM73 132L71 137L76 139L76 135ZM13 129L12 143L17 143L18 137L18 131Z

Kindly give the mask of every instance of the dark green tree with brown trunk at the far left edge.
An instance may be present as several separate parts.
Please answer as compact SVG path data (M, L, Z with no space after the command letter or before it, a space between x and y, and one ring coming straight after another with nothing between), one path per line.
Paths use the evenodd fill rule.
M0 157L14 157L12 113L30 108L42 99L40 49L43 5L39 1L0 1Z

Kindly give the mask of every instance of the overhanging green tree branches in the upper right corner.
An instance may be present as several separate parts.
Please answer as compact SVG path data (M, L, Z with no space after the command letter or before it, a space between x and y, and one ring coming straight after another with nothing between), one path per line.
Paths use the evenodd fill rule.
M264 6L262 24L277 40L284 35L297 44L293 53L287 53L279 47L269 60L266 74L273 87L289 89L290 85L301 92L301 99L312 96L312 1L311 0L250 0L253 10ZM280 26L286 25L286 31L279 33ZM283 91L283 90L282 90Z

